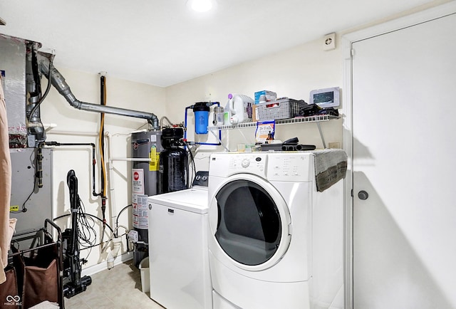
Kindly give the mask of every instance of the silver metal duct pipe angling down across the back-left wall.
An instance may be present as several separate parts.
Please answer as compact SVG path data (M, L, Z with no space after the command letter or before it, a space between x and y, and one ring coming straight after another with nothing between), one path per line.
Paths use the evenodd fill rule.
M127 110L125 108L114 108L112 106L81 102L76 99L71 92L70 86L66 83L65 78L63 78L61 73L58 72L52 63L51 69L49 70L49 60L46 57L42 57L40 61L40 70L41 73L48 78L54 88L58 90L58 93L63 95L73 108L77 108L78 110L87 110L89 112L105 112L107 114L147 119L155 130L160 130L158 117L151 112L139 112L137 110Z

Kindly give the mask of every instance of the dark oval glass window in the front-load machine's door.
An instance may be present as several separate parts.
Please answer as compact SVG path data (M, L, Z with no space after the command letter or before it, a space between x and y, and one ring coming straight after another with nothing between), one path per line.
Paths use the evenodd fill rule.
M247 179L228 182L217 195L215 238L229 257L247 266L268 261L279 248L282 222L271 195Z

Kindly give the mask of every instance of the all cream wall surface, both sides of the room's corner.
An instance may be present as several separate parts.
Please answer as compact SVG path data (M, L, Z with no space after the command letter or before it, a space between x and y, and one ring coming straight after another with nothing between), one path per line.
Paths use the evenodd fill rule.
M244 63L233 68L173 85L159 88L151 85L133 83L127 80L106 77L107 105L153 112L159 118L166 115L173 123L183 122L185 107L198 101L219 101L222 106L227 102L228 93L243 93L254 97L258 90L274 90L279 96L309 101L309 92L316 88L341 86L341 51L322 51L321 40L291 48L282 53ZM83 102L100 103L100 76L66 68L58 68L66 78L73 94ZM46 79L43 78L43 86ZM98 154L98 130L100 114L76 110L57 93L54 88L41 106L41 120L57 126L48 131L47 142L82 142L97 145L96 192L100 192L100 156ZM130 132L147 127L145 120L105 114L105 132L110 139L105 140L105 155L110 157L130 157ZM166 123L166 122L165 122ZM215 142L212 135L193 134L193 112L188 112L188 136L199 142ZM322 124L326 142L342 142L341 120L331 120ZM299 137L302 144L323 147L315 124L281 125L276 127L276 139L286 140ZM238 142L254 142L254 127L243 130L223 131L222 137L230 150L236 150ZM108 153L109 141L110 150ZM222 147L200 146L197 150L197 169L207 169L208 155L212 151L224 151ZM108 209L106 218L110 226L115 226L115 216L120 209L130 204L130 163L115 161L113 179L108 179ZM78 193L88 214L101 218L101 199L92 195L91 150L90 147L55 147L53 152L53 206L54 216L68 214L70 207L66 174L74 169L78 177ZM114 207L114 210L110 209ZM97 221L97 220L95 220ZM65 229L66 219L58 224ZM119 224L130 224L130 211L120 216ZM100 225L95 225L101 234ZM123 233L123 230L120 230ZM104 239L107 239L106 233ZM97 241L100 241L98 238ZM125 242L123 251L125 251ZM88 250L81 256L85 258ZM93 248L85 267L104 263L100 248Z

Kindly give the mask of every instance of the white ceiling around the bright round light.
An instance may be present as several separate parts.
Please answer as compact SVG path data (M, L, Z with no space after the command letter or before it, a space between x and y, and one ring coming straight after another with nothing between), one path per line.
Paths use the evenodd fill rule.
M429 0L0 0L0 33L54 50L54 65L166 87L384 19Z

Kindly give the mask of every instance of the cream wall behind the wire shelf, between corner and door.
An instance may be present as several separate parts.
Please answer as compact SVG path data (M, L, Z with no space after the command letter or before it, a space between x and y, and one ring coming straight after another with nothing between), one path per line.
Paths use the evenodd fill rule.
M259 90L272 90L279 97L296 100L304 99L309 102L311 90L342 87L343 68L341 48L323 51L322 40L306 43L287 51L243 63L200 78L172 85L166 88L167 111L172 121L183 121L185 107L199 101L220 102L223 107L227 103L229 93L240 93L254 98ZM343 91L343 89L342 89ZM171 111L180 111L180 114ZM194 137L193 113L188 112L188 135L198 142L214 142L214 137L208 134ZM331 120L321 124L323 135L328 142L339 142L342 145L341 120ZM254 142L255 127L222 131L222 142L227 142L229 150L236 150L238 142ZM314 123L276 126L276 139L286 140L298 137L301 144L323 144ZM216 148L216 149L214 149ZM207 150L224 151L223 147L201 146L197 151L197 169L207 169Z

